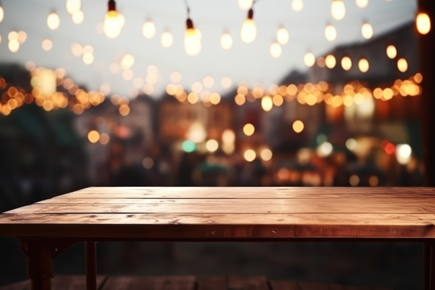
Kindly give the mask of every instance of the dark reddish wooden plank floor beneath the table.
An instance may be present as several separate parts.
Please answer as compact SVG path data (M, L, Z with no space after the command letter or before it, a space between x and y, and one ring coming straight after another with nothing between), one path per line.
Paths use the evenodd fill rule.
M267 281L259 277L105 277L98 276L99 290L389 290L292 281ZM58 276L54 290L83 290L84 276ZM0 287L0 290L30 290L30 281Z

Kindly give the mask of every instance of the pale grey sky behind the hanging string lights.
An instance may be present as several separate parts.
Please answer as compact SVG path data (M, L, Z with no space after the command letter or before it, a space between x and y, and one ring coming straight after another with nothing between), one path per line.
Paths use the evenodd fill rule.
M225 94L222 77L231 78L233 85L246 80L250 85L260 82L266 87L274 84L294 69L306 70L303 55L311 50L316 56L334 46L363 42L361 24L368 21L374 28L374 37L410 22L415 15L415 0L369 0L366 8L358 8L355 0L343 0L346 16L334 20L330 0L303 0L301 12L291 9L291 0L259 0L254 5L257 37L251 44L240 39L240 28L246 11L238 7L237 0L188 0L190 17L202 33L202 50L197 56L184 51L186 8L183 0L135 1L117 0L117 8L125 17L121 35L109 39L97 32L96 27L104 20L106 0L82 0L84 21L72 22L64 0L3 0L5 18L0 24L0 61L25 64L32 60L38 67L56 69L63 67L77 84L89 90L98 90L102 82L111 84L111 94L127 95L133 88L133 79L126 81L120 74L109 71L111 63L129 53L135 58L132 67L135 77L145 80L146 68L156 65L159 79L155 96L160 96L170 82L173 71L182 74L181 84L189 90L194 81L205 76L215 80L211 92ZM57 30L47 27L47 16L55 10L60 16ZM146 39L142 25L150 18L156 25L156 35ZM329 42L324 36L324 27L332 23L337 30L337 39ZM284 26L289 31L290 41L282 47L279 58L270 55L270 45L276 31ZM173 35L173 44L162 47L160 36L166 29ZM26 42L17 53L8 50L8 33L24 30ZM226 51L220 46L220 37L227 30L233 37L233 46ZM53 48L46 52L41 42L49 38ZM94 48L94 63L85 65L81 57L71 52L71 44L77 42Z

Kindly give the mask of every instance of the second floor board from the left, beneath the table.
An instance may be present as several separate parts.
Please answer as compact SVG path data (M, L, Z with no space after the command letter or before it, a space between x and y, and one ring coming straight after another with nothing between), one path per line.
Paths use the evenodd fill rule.
M194 276L109 277L101 290L194 290Z

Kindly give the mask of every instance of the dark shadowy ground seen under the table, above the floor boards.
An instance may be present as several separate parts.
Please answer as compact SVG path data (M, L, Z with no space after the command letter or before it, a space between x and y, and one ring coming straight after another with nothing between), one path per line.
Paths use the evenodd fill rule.
M396 290L421 288L422 244L378 242L100 242L106 275L266 276ZM16 239L0 239L0 286L25 280ZM84 274L84 246L54 261L55 274Z

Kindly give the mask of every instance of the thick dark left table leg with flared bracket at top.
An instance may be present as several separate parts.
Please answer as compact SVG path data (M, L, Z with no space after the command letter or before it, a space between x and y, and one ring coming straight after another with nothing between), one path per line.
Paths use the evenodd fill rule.
M51 290L53 260L76 242L69 238L19 238L32 290Z

